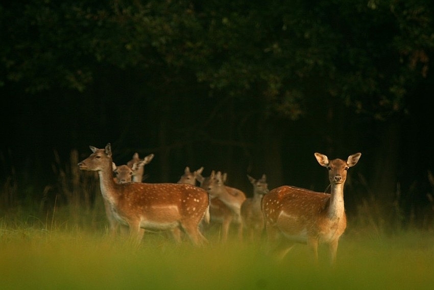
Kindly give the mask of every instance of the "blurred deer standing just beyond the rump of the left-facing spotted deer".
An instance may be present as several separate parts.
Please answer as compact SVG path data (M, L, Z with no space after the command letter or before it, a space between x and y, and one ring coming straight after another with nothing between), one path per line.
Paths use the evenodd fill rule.
M232 223L238 226L237 231L238 236L240 236L242 234L241 227L243 226L240 218L240 208L244 200L246 200L246 194L239 189L226 186L226 174L222 174L220 171L215 173L212 170L211 175L206 178L198 175L198 180L201 187L207 190L211 198L209 207L211 221L222 224L222 241L225 242L228 239Z

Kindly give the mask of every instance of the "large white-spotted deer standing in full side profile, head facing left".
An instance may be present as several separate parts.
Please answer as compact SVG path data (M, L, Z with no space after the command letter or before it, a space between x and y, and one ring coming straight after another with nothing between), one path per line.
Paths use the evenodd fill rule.
M123 183L113 180L112 151L89 146L92 153L78 164L81 170L98 171L103 198L115 219L130 228L130 238L138 246L145 229L183 229L194 244L206 239L199 222L208 208L205 190L188 184Z

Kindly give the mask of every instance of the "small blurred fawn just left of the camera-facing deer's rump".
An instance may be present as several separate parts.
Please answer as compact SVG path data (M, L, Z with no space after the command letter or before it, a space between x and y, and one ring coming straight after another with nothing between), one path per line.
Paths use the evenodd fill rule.
M243 222L242 231L246 229L250 241L260 238L264 229L264 219L261 211L261 200L264 194L269 192L267 184L267 175L262 174L261 178L256 180L247 175L250 183L253 185L253 196L246 198L241 205L240 215ZM240 234L243 238L243 232Z

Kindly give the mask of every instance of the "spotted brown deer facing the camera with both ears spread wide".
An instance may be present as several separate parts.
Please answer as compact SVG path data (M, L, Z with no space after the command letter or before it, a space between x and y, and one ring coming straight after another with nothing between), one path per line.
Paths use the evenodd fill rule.
M261 209L270 244L280 242L277 251L283 258L297 242L307 243L318 261L318 244L328 244L330 263L336 260L337 244L347 226L344 209L344 184L348 168L356 165L360 153L348 159L329 160L315 153L328 170L330 194L293 186L281 186L264 195Z

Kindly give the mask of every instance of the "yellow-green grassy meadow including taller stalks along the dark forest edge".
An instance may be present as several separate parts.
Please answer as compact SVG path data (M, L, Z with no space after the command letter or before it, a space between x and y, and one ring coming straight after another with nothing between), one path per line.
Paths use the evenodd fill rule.
M337 262L327 248L312 253L299 244L283 261L266 242L240 242L231 232L220 242L219 226L209 243L176 244L164 233L147 233L138 249L108 234L95 172L54 166L56 185L32 202L14 199L17 188L0 193L0 289L431 289L434 285L433 227L386 230L375 202L349 218ZM412 229L414 228L414 229Z

